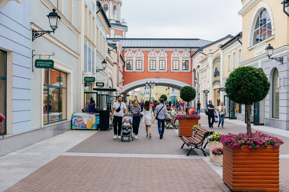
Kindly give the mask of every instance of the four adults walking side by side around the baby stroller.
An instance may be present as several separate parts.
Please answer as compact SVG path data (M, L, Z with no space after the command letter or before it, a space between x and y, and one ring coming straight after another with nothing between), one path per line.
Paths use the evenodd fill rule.
M117 97L117 101L113 103L110 119L113 120L113 139L121 138L122 130L122 116L124 114L132 114L132 130L133 138L138 139L138 130L140 126L141 116L145 124L145 129L147 132L146 137L151 138L151 123L154 122L154 112L158 120L158 132L160 134L160 139L163 138L165 130L165 117L169 117L167 114L167 109L164 105L164 99L160 99L159 102L149 102L149 101L138 101L135 99L133 101L125 100L122 102L122 96Z

